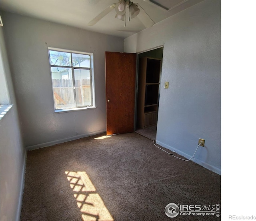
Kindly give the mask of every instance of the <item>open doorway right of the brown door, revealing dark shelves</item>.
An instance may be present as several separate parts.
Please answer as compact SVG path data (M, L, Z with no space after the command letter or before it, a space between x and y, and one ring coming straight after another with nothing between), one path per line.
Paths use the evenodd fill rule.
M135 132L156 139L164 47L138 54Z

